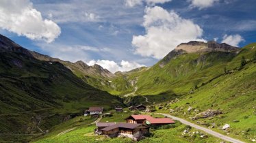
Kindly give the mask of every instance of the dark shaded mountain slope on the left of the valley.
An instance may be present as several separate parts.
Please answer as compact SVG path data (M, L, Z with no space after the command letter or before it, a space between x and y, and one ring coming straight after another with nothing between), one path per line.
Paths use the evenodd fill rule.
M89 106L123 106L118 97L86 84L59 60L41 61L35 55L52 59L0 35L0 133L10 133L1 139L26 142L27 136L15 133L40 133L39 123L46 131Z

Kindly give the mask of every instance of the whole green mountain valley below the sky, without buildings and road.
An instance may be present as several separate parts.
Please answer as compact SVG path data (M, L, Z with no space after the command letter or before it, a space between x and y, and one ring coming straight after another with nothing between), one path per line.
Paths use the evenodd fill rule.
M171 114L223 135L253 142L256 134L256 46L216 42L177 46L152 67L112 74L100 65L71 63L27 50L0 35L0 141L132 142L94 136L95 121L123 121L130 114ZM149 112L131 112L144 104ZM83 116L92 106L113 117ZM206 114L206 115L205 115ZM209 114L209 115L208 115ZM166 115L167 116L167 115ZM224 125L228 129L222 129ZM181 123L140 142L222 142ZM206 134L206 133L203 133ZM86 138L85 138L86 137Z

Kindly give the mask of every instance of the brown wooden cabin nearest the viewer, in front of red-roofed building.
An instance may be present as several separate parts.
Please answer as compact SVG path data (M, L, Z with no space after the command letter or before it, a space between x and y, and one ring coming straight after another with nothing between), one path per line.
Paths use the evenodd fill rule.
M137 139L146 133L149 133L149 127L142 124L118 123L101 129L106 136L116 137L119 135Z

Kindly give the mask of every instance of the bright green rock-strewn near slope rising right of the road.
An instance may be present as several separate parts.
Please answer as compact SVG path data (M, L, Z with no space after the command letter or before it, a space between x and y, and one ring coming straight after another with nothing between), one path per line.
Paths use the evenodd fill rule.
M240 54L227 63L228 72L210 82L205 82L193 93L171 104L170 108L175 110L173 114L189 119L207 109L222 110L223 114L213 118L201 118L194 122L200 121L207 126L214 123L217 125L217 131L229 132L231 136L241 138L246 142L255 139L256 48L254 47L256 44L246 46ZM242 57L247 59L244 67L240 67ZM193 110L188 113L189 106ZM219 129L226 123L231 125L229 131Z

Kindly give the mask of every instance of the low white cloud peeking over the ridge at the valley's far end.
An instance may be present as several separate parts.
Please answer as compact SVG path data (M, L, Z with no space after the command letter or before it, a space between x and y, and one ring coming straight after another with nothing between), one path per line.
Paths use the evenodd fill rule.
M139 63L136 62L129 62L129 61L121 61L120 65L114 61L109 61L109 60L98 60L98 61L89 61L87 63L88 65L101 65L104 69L109 70L112 73L121 71L121 72L127 72L131 69L135 69L137 67L143 67L145 65L140 65Z

